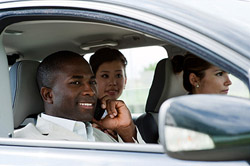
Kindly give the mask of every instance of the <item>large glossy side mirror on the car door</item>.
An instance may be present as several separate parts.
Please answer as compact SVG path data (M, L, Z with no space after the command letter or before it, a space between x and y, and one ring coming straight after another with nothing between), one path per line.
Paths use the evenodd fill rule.
M250 100L226 95L172 98L160 108L159 136L174 158L250 159Z

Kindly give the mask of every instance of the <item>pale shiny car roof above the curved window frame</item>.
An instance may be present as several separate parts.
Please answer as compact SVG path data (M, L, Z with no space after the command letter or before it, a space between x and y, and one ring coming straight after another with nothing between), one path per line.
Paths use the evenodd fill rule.
M109 2L143 10L183 24L249 57L249 0L137 0L135 2L110 0Z

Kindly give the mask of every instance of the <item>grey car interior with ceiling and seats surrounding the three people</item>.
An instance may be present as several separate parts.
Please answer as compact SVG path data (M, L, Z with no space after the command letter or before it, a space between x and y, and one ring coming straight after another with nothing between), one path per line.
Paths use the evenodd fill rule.
M35 123L37 114L43 111L36 69L43 58L59 50L74 51L83 57L103 47L161 46L166 50L167 57L159 61L154 70L146 109L134 119L147 143L159 142L157 124L161 104L169 98L187 94L182 86L182 75L174 74L171 64L172 56L184 55L186 50L132 28L93 20L37 19L8 25L1 40L10 69L13 129L28 122Z

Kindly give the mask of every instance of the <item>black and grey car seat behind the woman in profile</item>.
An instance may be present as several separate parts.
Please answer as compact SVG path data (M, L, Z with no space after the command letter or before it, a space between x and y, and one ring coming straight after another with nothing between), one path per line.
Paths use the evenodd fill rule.
M158 143L158 112L161 104L171 97L187 94L182 80L182 73L173 72L170 58L162 59L156 65L145 113L135 122L146 143Z

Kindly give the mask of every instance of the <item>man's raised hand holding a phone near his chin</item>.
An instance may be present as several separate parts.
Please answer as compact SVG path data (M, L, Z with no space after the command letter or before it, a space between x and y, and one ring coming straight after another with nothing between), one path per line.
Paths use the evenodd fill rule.
M107 96L103 97L101 101L102 108L107 110L108 115L99 121L93 119L93 122L100 125L101 128L114 130L124 142L134 142L136 128L125 103L121 100L111 100Z

